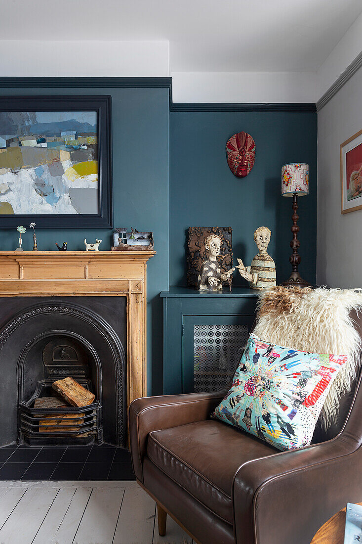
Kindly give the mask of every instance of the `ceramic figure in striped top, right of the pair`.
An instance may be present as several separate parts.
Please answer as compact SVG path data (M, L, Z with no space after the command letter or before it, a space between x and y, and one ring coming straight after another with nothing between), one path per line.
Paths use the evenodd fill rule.
M269 289L277 285L275 263L267 254L271 231L268 227L259 227L254 232L254 242L258 246L259 253L255 255L250 267L245 267L242 260L238 259L236 267L240 275L244 277L252 289Z

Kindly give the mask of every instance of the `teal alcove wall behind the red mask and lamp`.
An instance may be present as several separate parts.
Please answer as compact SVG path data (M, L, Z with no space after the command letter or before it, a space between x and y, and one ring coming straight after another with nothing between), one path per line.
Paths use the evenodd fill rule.
M310 167L309 196L299 198L299 271L315 282L316 274L316 113L171 112L170 123L170 285L186 285L186 230L189 226L233 227L234 264L250 264L256 254L255 228L271 228L268 252L277 280L291 272L291 199L280 194L283 164ZM250 174L236 178L225 145L246 131L256 144ZM234 274L234 285L247 286Z

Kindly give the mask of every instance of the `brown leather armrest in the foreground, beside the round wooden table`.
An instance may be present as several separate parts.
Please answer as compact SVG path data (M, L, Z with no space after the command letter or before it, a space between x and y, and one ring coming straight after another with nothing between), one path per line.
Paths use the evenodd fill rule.
M349 500L345 496L356 500L361 485L357 448L340 435L241 465L232 489L236 542L310 542Z

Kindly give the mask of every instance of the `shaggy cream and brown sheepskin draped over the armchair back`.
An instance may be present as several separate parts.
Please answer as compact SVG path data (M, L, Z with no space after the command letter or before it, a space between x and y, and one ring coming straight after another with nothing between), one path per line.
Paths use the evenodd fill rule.
M362 289L273 287L261 293L254 334L266 342L311 353L348 355L321 412L325 428L335 421L340 395L349 391L360 363L361 338L349 317L362 307Z

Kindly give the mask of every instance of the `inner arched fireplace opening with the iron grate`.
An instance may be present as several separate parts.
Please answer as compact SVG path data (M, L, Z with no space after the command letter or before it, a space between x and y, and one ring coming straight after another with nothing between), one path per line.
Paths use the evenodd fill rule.
M95 395L82 409L67 406L53 389L54 381L70 376ZM23 350L17 367L18 442L89 444L103 442L102 366L95 348L69 331L49 331ZM35 407L40 399L66 406ZM49 403L51 404L51 403Z

